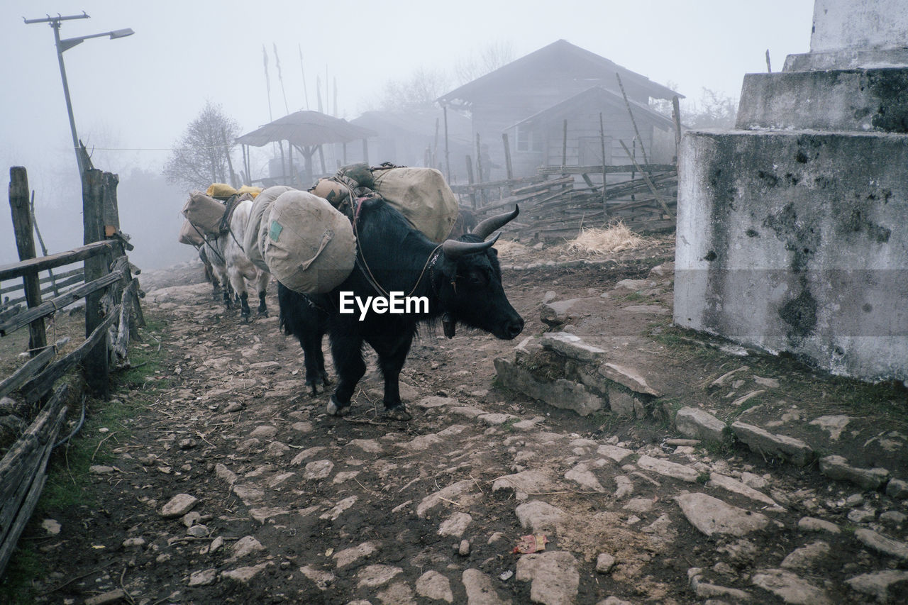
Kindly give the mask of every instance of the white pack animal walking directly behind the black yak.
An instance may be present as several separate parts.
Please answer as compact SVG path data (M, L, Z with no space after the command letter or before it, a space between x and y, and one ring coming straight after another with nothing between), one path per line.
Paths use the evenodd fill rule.
M215 240L209 239L203 246L208 260L212 263L214 273L220 278L223 288L223 301L228 309L232 308L231 289L240 297L240 316L243 322L248 322L252 315L249 307L249 291L246 282L255 284L255 291L259 294L259 315L268 315L268 306L265 304L265 289L271 281L271 273L256 267L242 249L243 236L246 233L246 224L252 213L252 200L243 200L238 203L230 221L230 231L222 233ZM230 284L231 288L227 287Z

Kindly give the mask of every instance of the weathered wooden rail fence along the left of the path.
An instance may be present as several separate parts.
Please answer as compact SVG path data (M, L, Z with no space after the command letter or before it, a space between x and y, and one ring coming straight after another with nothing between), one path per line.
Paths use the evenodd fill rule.
M91 166L90 161L85 165ZM35 258L28 176L23 167L10 169L9 203L21 260L0 266L0 282L21 278L26 308L20 303L0 312L0 337L27 327L31 358L0 381L0 398L12 394L40 412L0 460L0 574L35 509L47 461L64 424L67 386L57 382L81 364L88 388L96 396L107 397L110 366L125 364L130 332L143 325L139 283L125 254L132 246L119 228L116 184L115 174L88 168L83 175L85 245ZM54 280L60 280L56 290L54 286L42 290L44 280L38 273L74 263L83 266L56 273ZM69 285L84 283L63 291L67 280L72 280ZM54 297L43 301L48 292L54 292ZM56 344L47 343L44 318L80 299L85 300L85 340L62 354Z

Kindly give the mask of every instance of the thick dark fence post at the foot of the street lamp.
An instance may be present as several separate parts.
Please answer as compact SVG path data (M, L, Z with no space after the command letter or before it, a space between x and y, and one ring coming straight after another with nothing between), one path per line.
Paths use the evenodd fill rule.
M96 168L88 169L83 174L82 182L82 215L84 223L84 243L104 240L104 173ZM91 282L110 273L110 254L98 254L85 260L85 282ZM102 291L88 294L85 297L85 336L94 331L103 318L101 306ZM83 362L85 381L89 389L98 397L106 398L110 393L107 381L107 339L89 352Z

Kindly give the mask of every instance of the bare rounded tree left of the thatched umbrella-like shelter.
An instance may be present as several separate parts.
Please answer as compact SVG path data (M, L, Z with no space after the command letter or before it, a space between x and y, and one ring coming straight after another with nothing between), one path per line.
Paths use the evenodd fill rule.
M205 102L202 112L173 144L163 167L169 183L207 189L211 183L232 183L230 152L240 124L223 113L220 104Z

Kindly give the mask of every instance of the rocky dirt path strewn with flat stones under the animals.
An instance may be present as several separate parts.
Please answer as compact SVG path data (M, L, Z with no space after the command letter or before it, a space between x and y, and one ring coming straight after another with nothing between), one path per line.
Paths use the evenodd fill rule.
M550 330L540 319L548 291L610 301L598 319L619 333L637 334L636 323L658 331L670 314L611 302L669 305L670 281L658 293L618 283L650 278L671 256L661 243L610 263L515 261L505 285L529 336ZM895 483L859 487L816 464L690 439L657 413L559 409L498 384L493 362L517 342L478 332L424 333L414 345L401 385L411 422L382 420L374 372L352 415L334 418L327 398L303 387L273 290L271 317L242 324L194 283L199 275L145 278L145 316L164 326L160 380L115 396L153 392L153 403L130 420L114 461L93 469L101 506L52 511L46 535L26 537L52 570L38 587L43 602L908 599L908 493L881 487L908 478L904 468L886 471ZM568 326L594 332L581 323ZM734 402L754 376L782 380L740 370L745 362L724 353L686 354L690 365L665 372L711 390L665 395L675 410L703 408L709 393ZM804 376L819 406L829 379Z

